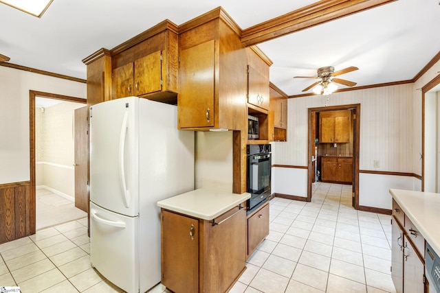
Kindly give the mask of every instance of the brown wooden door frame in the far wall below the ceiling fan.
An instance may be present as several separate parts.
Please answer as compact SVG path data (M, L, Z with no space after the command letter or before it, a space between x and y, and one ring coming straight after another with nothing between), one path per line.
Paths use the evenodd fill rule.
M360 147L360 104L338 105L338 106L325 106L318 108L308 108L308 139L307 139L307 201L311 201L312 194L312 179L314 176L314 170L311 163L311 156L315 155L315 150L312 148L313 141L313 119L314 113L328 111L328 110L349 110L354 109L354 128L353 128L353 207L359 209L359 147Z

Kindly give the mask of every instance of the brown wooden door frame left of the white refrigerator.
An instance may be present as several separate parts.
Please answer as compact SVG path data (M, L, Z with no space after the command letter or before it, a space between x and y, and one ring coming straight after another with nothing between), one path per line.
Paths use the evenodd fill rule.
M70 97L56 93L45 93L43 91L29 91L29 149L30 149L30 198L31 198L31 234L36 232L36 185L35 185L35 97L47 97L50 99L61 99L67 102L78 102L87 104L87 99L81 97Z

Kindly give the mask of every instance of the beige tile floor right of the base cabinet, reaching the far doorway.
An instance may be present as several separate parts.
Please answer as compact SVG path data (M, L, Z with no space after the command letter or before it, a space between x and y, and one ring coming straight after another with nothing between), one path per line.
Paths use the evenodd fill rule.
M390 220L353 209L351 185L315 183L311 202L274 198L270 235L230 292L395 292Z

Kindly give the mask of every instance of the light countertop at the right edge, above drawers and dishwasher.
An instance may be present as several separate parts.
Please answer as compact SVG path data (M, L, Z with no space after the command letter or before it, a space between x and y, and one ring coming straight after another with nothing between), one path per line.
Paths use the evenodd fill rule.
M390 194L426 242L440 255L440 194L401 189L390 189Z

